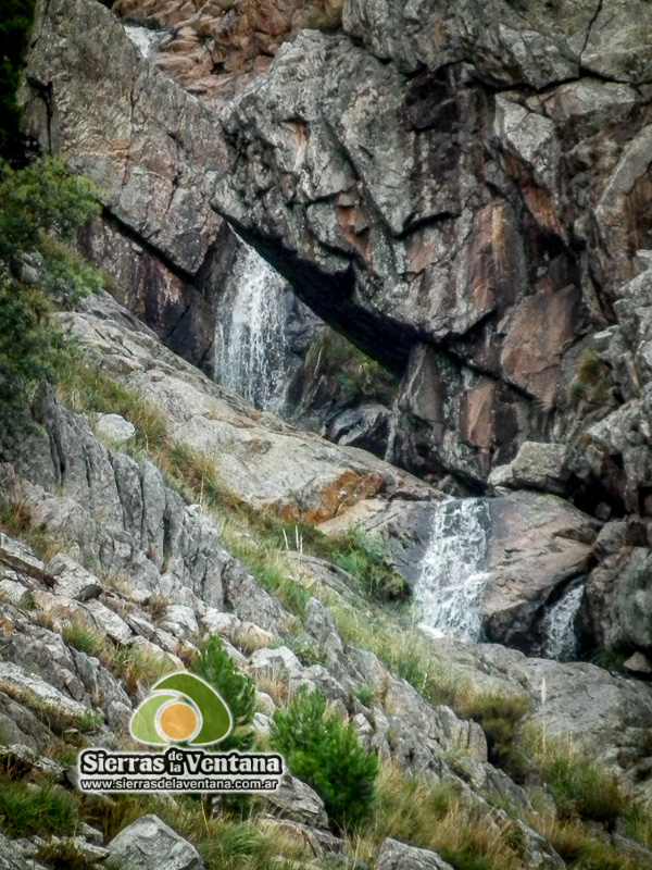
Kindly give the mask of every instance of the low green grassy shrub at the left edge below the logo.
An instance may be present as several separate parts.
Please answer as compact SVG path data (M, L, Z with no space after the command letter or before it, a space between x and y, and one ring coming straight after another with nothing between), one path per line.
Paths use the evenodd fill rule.
M0 829L9 836L72 834L76 826L77 805L63 788L0 780Z

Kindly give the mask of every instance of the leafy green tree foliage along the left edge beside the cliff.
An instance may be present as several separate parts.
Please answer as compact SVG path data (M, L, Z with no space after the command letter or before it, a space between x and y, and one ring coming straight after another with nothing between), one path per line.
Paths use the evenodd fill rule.
M0 163L0 422L24 420L35 387L67 359L52 304L72 304L102 279L66 247L99 213L92 185L61 160L22 170ZM32 270L28 276L26 264ZM30 284L26 282L29 279Z

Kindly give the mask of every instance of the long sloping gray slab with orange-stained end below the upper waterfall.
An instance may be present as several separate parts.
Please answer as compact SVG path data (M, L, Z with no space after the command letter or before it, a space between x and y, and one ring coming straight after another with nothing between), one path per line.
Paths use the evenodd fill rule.
M208 455L225 489L252 507L318 522L371 496L438 497L432 487L362 450L256 412L166 351L108 295L88 300L85 309L64 316L70 333L98 353L106 374L160 410L171 438Z

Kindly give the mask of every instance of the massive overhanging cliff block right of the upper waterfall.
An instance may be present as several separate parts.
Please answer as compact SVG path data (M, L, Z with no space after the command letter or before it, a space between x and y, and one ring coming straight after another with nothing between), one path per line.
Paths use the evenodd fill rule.
M222 113L215 207L404 372L394 451L422 473L480 482L566 435L587 337L648 245L647 8L603 49L593 7L485 27L349 3L347 36L302 34Z

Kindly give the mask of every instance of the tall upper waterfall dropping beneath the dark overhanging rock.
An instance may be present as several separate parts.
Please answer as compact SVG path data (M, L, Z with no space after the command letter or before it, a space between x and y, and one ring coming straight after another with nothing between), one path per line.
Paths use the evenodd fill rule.
M253 248L238 252L223 307L215 380L263 411L281 413L287 389L284 278Z

